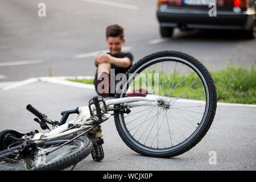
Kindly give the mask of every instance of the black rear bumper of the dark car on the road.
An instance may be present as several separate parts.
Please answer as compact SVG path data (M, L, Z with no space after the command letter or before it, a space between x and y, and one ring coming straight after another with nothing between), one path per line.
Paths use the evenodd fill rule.
M162 27L214 28L249 30L254 23L255 10L218 11L209 16L209 10L165 9L158 10L157 17Z

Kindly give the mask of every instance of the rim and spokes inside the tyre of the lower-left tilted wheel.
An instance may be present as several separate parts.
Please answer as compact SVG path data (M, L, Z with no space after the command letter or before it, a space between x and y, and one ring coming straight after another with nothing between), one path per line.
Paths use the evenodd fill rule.
M59 150L55 150L55 148L59 147L60 144L67 142L68 140L55 140L51 142L45 142L39 144L38 154L34 156L30 156L25 159L16 160L15 156L17 155L15 151L7 152L9 154L5 158L0 159L0 170L1 171L23 171L23 170L34 170L36 168L49 165L51 163L56 162L57 160L61 160L68 155L72 155L73 153L80 150L84 143L80 140L74 140L72 143L69 143ZM53 152L51 152L53 151ZM47 152L50 152L46 155Z

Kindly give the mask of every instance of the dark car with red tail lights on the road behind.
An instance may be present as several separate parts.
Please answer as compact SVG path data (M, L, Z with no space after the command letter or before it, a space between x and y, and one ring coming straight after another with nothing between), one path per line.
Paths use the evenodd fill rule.
M157 18L162 37L181 30L242 30L255 38L255 0L158 0Z

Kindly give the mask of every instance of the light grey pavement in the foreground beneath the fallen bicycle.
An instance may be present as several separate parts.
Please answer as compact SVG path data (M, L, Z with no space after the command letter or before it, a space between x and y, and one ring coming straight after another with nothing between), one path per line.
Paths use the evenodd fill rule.
M61 91L60 91L61 90ZM40 129L34 115L26 110L31 104L53 120L60 121L60 112L88 105L95 96L93 89L75 88L47 82L34 82L9 90L0 90L0 129L23 133ZM3 104L4 103L4 104ZM105 158L94 162L91 156L77 164L75 170L251 170L256 169L256 107L218 104L216 116L207 135L188 152L175 158L150 158L131 150L119 137L114 118L102 123ZM71 115L70 119L76 117ZM211 156L216 163L211 163ZM210 162L209 162L210 161Z

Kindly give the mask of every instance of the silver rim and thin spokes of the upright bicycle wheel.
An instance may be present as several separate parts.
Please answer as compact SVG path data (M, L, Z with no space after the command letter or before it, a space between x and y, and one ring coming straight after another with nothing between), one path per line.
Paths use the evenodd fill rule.
M167 64L163 65L163 63L167 63ZM143 121L143 122L133 124L133 126L130 124L136 121L136 119L133 119L133 121L127 121L127 119L125 118L129 117L129 115L123 115L122 113L119 114L119 121L121 121L121 127L126 137L131 142L133 142L137 147L142 148L142 150L146 150L149 152L169 152L184 146L184 144L187 144L200 131L201 127L205 123L205 119L207 118L208 111L209 111L209 90L208 90L207 81L205 80L203 74L199 71L199 69L195 67L195 65L179 57L172 57L172 56L159 57L159 58L147 61L147 63L144 63L143 65L141 65L141 67L139 67L131 76L129 76L129 79L127 80L126 84L123 86L120 97L125 96L126 87L127 85L129 85L129 82L131 82L131 79L136 77L134 76L136 73L144 72L145 70L144 68L155 67L156 72L158 72L158 74L162 73L162 75L165 75L164 71L167 71L167 73L170 72L169 71L169 68L171 68L170 63L172 63L172 68L175 67L173 78L172 78L172 84L171 84L171 92L170 90L164 91L164 82L165 82L164 79L163 81L160 81L159 79L158 86L160 87L161 92L160 94L158 94L158 96L155 96L155 93L152 92L152 89L151 90L150 88L148 89L147 77L146 77L146 84L144 83L140 85L142 88L144 85L144 88L146 87L146 89L148 90L147 97L150 97L154 94L154 96L156 97L156 100L159 101L160 99L162 99L163 101L165 101L165 103L170 104L171 106L169 107L169 109L166 109L164 107L159 107L158 104L156 104L155 106L152 106L151 108L143 108L141 110L138 110L137 109L138 107L135 107L135 109L138 112L138 115L141 115L141 117L139 117L141 118L140 121ZM162 67L162 72L159 71L159 68L161 67ZM186 93L188 90L190 92L191 88L199 88L199 87L203 88L203 92L205 95L205 98L203 98L204 101L199 101L198 99L200 97L197 98L196 100L193 99L192 97L192 98L189 98L191 103L188 104L189 102L185 101L184 98L188 99L188 96L189 95L193 96L193 93L187 94L186 96L183 96L183 93L182 94L179 93L177 94L177 96L180 96L180 97L171 96L170 99L167 98L168 96L170 96L170 94L166 94L166 93L171 93L171 95L174 94L174 90L177 87L179 87L179 83L184 82L183 79L182 80L179 79L180 78L179 74L181 75L181 73L184 72L184 70L186 69L193 72L193 73L190 73L190 76L192 76L195 73L195 75L197 75L197 78L195 78L196 80L192 80L191 82L189 82L188 84L189 86L183 92ZM176 77L175 77L175 72L176 72ZM187 71L185 71L184 73L186 72ZM159 77L161 77L161 74ZM188 77L189 77L189 74L184 79L189 80L187 79ZM177 84L176 84L177 86L175 86L176 80L177 80ZM201 81L201 85L195 86L195 84L197 84L197 81L199 80ZM196 93L197 89L194 89L194 91L195 91L194 93ZM170 102L167 102L167 100L169 100ZM185 106L184 104L179 105L178 103L180 101L181 102L185 101ZM195 108L197 110L195 110ZM133 114L133 111L131 112L131 114ZM199 114L201 114L200 117L195 117L195 115L199 115ZM192 118L191 121L188 118L188 116L190 119ZM175 119L180 121L180 123L175 122ZM162 121L159 121L159 120L162 120ZM181 122L183 123L181 124ZM191 127L188 127L188 125L193 126L194 129L190 129ZM183 131L185 134L183 133Z

